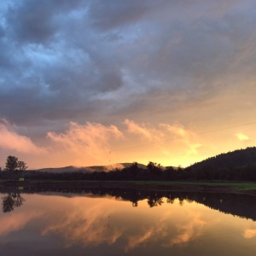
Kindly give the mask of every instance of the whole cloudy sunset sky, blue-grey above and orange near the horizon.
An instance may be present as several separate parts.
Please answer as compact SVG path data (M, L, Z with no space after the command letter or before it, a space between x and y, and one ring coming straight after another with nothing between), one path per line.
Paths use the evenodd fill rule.
M256 145L253 0L3 0L0 166L189 166Z

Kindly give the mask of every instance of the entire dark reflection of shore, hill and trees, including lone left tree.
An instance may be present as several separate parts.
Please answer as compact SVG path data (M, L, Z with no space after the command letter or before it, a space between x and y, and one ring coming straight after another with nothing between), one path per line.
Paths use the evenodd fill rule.
M40 189L40 191L43 189ZM118 200L131 201L132 207L138 207L140 201L147 200L148 207L161 206L164 201L173 204L176 200L180 206L186 203L197 202L216 209L219 212L230 213L241 218L251 218L256 221L255 196L223 193L202 193L202 192L177 192L177 191L148 191L141 189L118 189L118 188L84 188L84 189L44 189L44 192L82 194L91 197L112 196ZM25 201L17 192L9 193L2 198L3 212L11 212L15 207L20 207ZM38 193L37 190L24 189L22 193ZM72 194L70 194L72 193Z

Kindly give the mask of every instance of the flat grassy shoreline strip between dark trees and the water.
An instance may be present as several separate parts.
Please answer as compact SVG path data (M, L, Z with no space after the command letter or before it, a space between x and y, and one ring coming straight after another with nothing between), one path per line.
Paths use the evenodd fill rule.
M216 192L256 195L256 183L162 181L2 180L2 189L140 189L148 191Z

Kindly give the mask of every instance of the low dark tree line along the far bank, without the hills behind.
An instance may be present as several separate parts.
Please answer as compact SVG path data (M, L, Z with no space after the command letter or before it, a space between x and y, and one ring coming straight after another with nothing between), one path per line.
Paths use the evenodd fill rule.
M177 181L177 180L232 180L232 181L256 181L256 165L239 166L234 168L214 169L205 166L202 169L162 167L152 162L146 169L133 163L122 170L115 169L110 172L0 172L1 179L25 177L29 179L56 179L56 180L98 180L98 181Z

